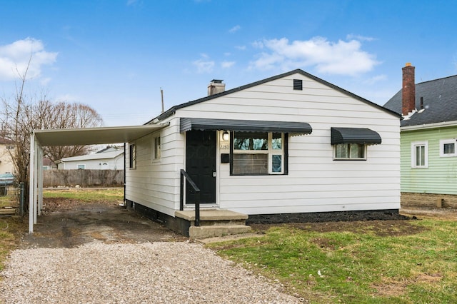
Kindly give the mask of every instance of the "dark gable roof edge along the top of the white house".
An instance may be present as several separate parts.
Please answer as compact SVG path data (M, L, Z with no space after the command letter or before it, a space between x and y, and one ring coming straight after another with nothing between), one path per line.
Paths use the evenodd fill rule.
M263 83L267 83L269 81L273 81L273 80L276 80L276 79L279 79L279 78L283 78L283 77L286 77L286 76L291 76L293 74L301 74L303 76L306 76L308 78L311 78L313 79L314 81L317 81L318 83L322 83L324 86L329 86L333 89L335 89L336 91L339 91L345 95L348 95L348 96L351 96L353 98L356 98L358 101L362 101L363 103L367 103L368 105L370 106L374 106L375 108L378 108L380 109L381 111L385 111L387 113L390 113L394 116L398 116L399 118L401 117L401 115L398 115L398 113L394 112L394 111L391 111L390 109L388 108L384 108L383 106L379 106L378 104L376 103L373 103L371 101L368 101L366 100L365 98L362 98L360 96L357 96L356 94L354 93L351 93L349 91L346 91L344 90L343 88L340 88L338 86L335 86L334 84L332 83L329 83L321 78L318 78L316 76L313 76L311 74L308 74L306 73L305 71L301 70L301 69L296 69L296 70L293 70L293 71L289 71L287 73L284 73L284 74L279 74L279 75L276 75L276 76L272 76L272 77L269 77L269 78L265 78L263 80L260 80L260 81L256 81L256 82L253 82L253 83L248 83L244 86L238 86L238 88L232 88L231 90L228 90L228 91L224 91L224 92L221 92L221 93L217 93L217 94L214 94L214 95L211 95L211 96L206 96L204 98L199 98L199 99L196 99L194 101L189 101L189 102L186 102L186 103L181 103L177 106L173 106L171 108L169 108L169 110L165 111L164 113L161 113L161 115L157 116L156 118L153 118L151 119L151 121L148 121L147 123L145 124L149 124L149 123L152 123L153 121L161 121L165 118L168 118L169 116L172 116L174 115L174 113L176 113L176 110L179 110L180 108L185 108L186 106L192 106L196 103L202 103L204 101L209 101L211 99L214 99L214 98L218 98L218 97L221 97L221 96L225 96L225 95L229 95L231 93L235 93L235 92L238 92L238 91L241 91L241 90L244 90L246 88L251 88L253 86L258 86L260 84L263 84Z

